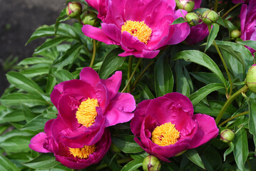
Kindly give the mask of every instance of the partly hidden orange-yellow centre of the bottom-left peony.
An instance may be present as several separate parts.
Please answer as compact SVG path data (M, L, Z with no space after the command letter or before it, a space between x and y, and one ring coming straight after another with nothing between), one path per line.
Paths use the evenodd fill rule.
M85 145L82 148L69 148L69 152L73 157L78 157L81 159L86 159L89 155L93 154L96 150L96 145Z

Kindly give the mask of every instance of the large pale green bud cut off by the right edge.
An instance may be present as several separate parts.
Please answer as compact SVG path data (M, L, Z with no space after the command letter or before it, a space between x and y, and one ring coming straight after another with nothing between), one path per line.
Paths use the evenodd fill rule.
M256 93L256 64L253 64L247 72L246 84L252 92Z

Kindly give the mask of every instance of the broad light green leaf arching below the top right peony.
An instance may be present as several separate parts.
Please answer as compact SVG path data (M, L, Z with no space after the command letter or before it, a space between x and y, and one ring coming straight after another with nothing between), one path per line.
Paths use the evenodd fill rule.
M238 61L242 63L242 65L245 66L245 71L247 72L248 69L253 64L253 56L250 51L245 48L245 46L242 46L238 43L233 43L230 41L215 41L217 43L217 46L230 53L233 57L237 58Z

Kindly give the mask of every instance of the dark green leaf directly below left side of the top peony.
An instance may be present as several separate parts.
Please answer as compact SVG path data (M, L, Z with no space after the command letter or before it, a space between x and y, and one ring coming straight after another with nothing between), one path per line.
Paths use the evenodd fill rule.
M121 48L115 48L105 56L101 68L98 71L98 75L102 79L108 78L113 71L116 71L117 68L123 66L123 62L126 58L118 56L120 53L123 53L123 50L121 50Z

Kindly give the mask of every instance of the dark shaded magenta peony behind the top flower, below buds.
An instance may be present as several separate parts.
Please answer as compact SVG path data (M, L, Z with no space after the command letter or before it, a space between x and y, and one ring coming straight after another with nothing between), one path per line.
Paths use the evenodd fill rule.
M185 42L188 45L193 45L195 43L199 43L200 41L203 41L203 39L208 36L208 26L204 23L198 24L196 26L192 26L190 28L190 34L185 39Z

